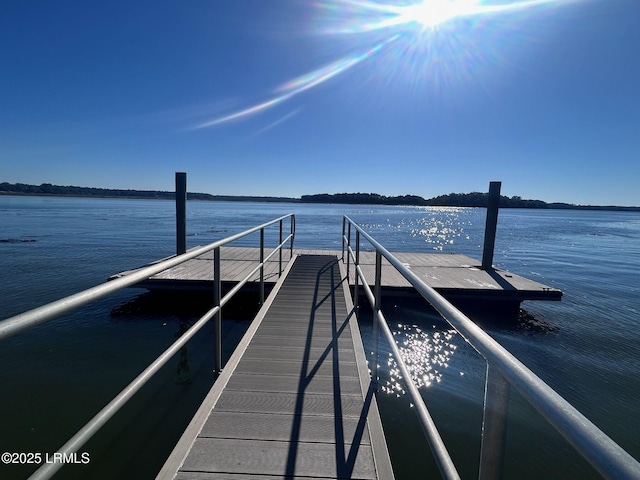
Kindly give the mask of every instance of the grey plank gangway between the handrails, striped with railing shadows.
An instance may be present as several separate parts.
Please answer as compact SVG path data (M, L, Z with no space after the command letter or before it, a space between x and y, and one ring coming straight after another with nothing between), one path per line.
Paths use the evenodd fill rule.
M159 479L393 478L344 265L294 259Z

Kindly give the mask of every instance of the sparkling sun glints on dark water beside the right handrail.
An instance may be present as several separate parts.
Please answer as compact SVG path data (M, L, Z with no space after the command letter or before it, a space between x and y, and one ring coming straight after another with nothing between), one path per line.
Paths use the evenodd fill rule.
M418 388L428 388L442 381L442 370L449 367L450 358L458 348L452 342L456 335L454 329L441 330L435 325L428 331L416 325L397 324L393 336L400 356ZM405 394L401 384L402 375L396 360L391 353L388 355L389 378L380 390L399 397ZM464 375L464 372L459 374Z

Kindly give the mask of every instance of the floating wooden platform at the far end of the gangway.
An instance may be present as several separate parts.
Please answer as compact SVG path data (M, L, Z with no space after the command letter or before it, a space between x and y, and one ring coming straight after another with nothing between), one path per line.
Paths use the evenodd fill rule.
M296 249L297 255L341 256L335 250ZM562 292L539 282L521 277L505 270L483 270L480 261L466 255L442 253L394 253L402 263L408 266L427 285L434 288L450 300L488 300L519 303L524 300L560 300ZM260 249L253 247L221 248L222 282L234 284L243 279L260 258ZM283 266L289 260L289 252L283 252ZM373 286L375 279L375 253L360 253L362 271L367 283ZM126 275L122 272L117 276ZM266 262L264 279L275 284L278 280L278 256ZM256 275L257 281L257 275ZM213 252L203 254L177 267L154 275L138 284L149 289L185 288L211 290L213 283ZM355 269L349 270L349 284L355 283ZM396 294L413 294L409 282L400 275L384 258L382 260L382 288Z

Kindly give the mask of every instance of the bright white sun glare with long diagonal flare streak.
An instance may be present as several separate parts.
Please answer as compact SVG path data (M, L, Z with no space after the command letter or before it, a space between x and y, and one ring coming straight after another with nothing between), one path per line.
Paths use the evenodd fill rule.
M376 56L385 47L402 38L402 45L394 49L381 68L389 66L389 59L395 59L395 68L400 67L409 74L421 72L419 65L429 63L437 65L441 76L449 77L456 68L455 60L447 61L448 56L475 59L474 49L464 46L456 35L455 29L447 31L446 38L434 41L425 31L435 31L438 27L458 18L475 16L495 16L499 14L525 12L543 6L566 5L582 0L514 0L486 2L482 0L421 0L402 5L377 3L360 0L325 0L315 3L319 16L330 24L319 29L323 34L361 34L357 45L360 53L340 58L325 66L312 70L297 78L283 83L275 89L272 98L248 106L241 110L200 123L193 129L218 126L234 120L244 120L274 108L301 93L316 88L328 80L350 70L361 62ZM323 16L322 13L325 15ZM470 27L467 27L470 28ZM375 35L374 35L375 32ZM412 35L412 32L417 32ZM383 35L380 36L380 33ZM453 55L450 55L454 53ZM426 59L426 60L425 60ZM434 72L436 73L434 75ZM429 71L434 83L440 82L438 72ZM463 74L461 74L463 75ZM416 75L417 76L417 75Z

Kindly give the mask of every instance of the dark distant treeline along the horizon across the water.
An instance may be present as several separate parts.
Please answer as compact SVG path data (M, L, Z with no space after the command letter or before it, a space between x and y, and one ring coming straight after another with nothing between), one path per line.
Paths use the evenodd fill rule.
M24 183L0 183L0 194L5 195L65 195L76 197L122 197L173 200L174 192L157 190L114 190L110 188L60 186L50 183L27 185ZM416 205L433 207L486 207L489 194L483 192L450 193L425 199L417 195L387 197L377 193L321 193L290 197L256 197L234 195L211 195L209 193L187 193L189 200L211 200L231 202L301 202L301 203L342 203L364 205ZM617 207L596 205L573 205L570 203L547 203L542 200L525 200L519 196L500 197L501 208L547 208L547 209L583 209L616 210L640 212L640 207Z

